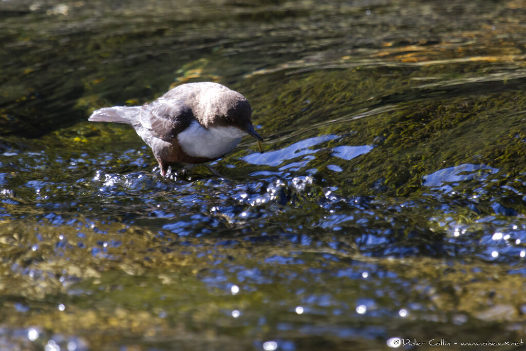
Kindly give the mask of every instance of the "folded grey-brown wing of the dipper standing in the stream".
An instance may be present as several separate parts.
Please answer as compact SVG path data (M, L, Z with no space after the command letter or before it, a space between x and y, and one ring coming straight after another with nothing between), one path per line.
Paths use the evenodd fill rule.
M195 120L192 109L181 100L159 98L145 106L140 123L151 135L170 141Z

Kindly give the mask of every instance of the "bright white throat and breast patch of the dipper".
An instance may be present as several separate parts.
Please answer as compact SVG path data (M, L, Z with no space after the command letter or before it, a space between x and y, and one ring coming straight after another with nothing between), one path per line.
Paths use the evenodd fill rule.
M219 158L232 151L244 135L246 133L236 127L205 129L194 121L177 135L177 141L190 156Z

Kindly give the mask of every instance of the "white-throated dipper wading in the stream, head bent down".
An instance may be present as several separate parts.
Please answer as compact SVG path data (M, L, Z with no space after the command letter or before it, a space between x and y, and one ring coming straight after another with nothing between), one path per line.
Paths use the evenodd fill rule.
M131 125L151 147L161 175L168 166L214 161L236 147L242 136L263 140L254 130L247 99L212 82L176 86L143 106L114 106L95 111L89 121Z

